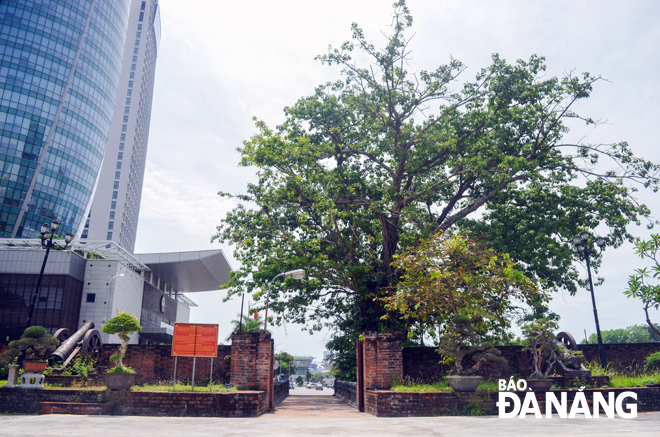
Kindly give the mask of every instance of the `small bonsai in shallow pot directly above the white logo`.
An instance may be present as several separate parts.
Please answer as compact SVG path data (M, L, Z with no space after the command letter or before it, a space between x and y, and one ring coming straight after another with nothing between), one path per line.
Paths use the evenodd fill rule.
M548 378L557 360L566 352L565 347L555 338L557 323L553 320L538 319L522 327L526 347L531 355L532 374L527 379L527 386L532 390L549 390L553 380Z

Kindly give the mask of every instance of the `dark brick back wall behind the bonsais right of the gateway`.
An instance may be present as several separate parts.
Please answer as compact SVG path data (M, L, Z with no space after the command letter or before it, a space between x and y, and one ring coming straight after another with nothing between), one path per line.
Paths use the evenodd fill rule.
M627 343L606 344L607 360L615 367L627 367L642 364L646 357L660 350L660 343ZM598 361L598 345L578 345L587 361ZM449 371L447 366L439 363L440 355L434 347L407 347L403 349L403 375L404 377L422 382L437 381L444 373ZM528 376L531 372L527 364L527 353L522 346L498 346L502 356L509 363L509 369L504 375L518 374ZM498 377L502 373L499 366L486 366L480 375L485 377Z

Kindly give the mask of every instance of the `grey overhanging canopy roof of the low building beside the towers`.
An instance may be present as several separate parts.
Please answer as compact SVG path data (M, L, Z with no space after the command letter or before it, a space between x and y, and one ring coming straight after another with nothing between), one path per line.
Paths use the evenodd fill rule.
M232 271L222 250L143 253L135 258L146 265L167 287L184 293L217 290Z

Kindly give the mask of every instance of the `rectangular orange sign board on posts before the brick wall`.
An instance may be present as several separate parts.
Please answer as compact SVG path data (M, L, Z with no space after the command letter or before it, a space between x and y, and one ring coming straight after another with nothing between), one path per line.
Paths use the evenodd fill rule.
M175 323L172 356L218 356L218 325Z

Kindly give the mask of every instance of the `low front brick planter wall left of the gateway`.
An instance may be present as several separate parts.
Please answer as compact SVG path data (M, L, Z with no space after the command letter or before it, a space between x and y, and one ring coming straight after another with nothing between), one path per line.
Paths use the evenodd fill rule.
M71 406L65 404L72 404ZM264 391L229 393L0 388L0 411L37 414L104 411L112 415L255 417L268 410ZM98 414L98 413L97 413Z

